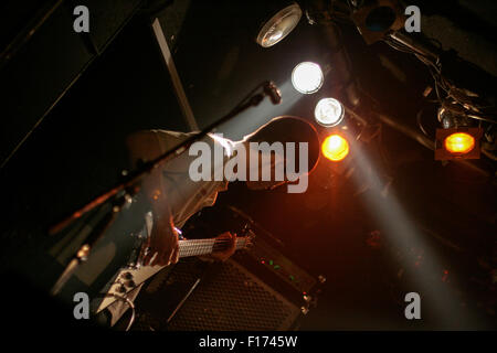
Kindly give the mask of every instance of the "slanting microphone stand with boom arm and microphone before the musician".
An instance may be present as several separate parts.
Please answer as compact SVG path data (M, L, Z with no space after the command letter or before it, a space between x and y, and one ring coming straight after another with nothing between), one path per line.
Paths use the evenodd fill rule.
M262 93L255 94L254 92L258 88L264 87ZM252 96L251 96L252 95ZM49 229L50 235L54 235L65 227L67 227L70 224L75 222L77 218L80 218L82 215L86 214L87 212L94 210L95 207L103 205L109 200L113 201L113 206L109 211L102 217L102 220L98 222L98 224L95 226L93 232L85 238L83 242L83 245L80 247L80 249L73 255L72 259L70 260L68 265L62 272L62 275L59 277L55 285L52 287L51 295L55 296L60 292L60 290L64 287L65 282L71 278L71 276L74 274L74 271L77 269L78 265L82 261L85 261L87 257L89 256L89 253L95 245L95 243L102 237L102 235L105 233L105 231L110 226L110 224L116 218L116 215L118 212L120 212L121 207L126 204L126 202L130 202L133 196L135 196L140 191L139 182L141 179L150 173L151 170L155 168L158 168L160 164L165 163L166 161L170 160L175 154L181 154L184 152L193 142L202 139L205 137L210 131L216 129L219 126L223 125L224 122L231 120L233 117L242 113L243 110L257 106L263 99L264 96L269 96L273 104L278 104L281 101L281 94L279 90L276 88L273 82L264 82L260 84L257 87L255 87L251 94L248 95L251 97L244 98L241 104L239 104L233 110L231 110L228 115L220 118L219 120L214 121L213 124L209 125L204 129L202 129L198 135L194 135L183 142L179 143L177 147L172 148L171 150L167 151L166 153L157 157L154 160L150 160L148 162L141 163L137 170L133 171L129 174L125 175L125 180L118 183L116 186L112 188L110 190L104 192L103 194L95 197L93 201L74 212L72 215L66 217L65 220L59 222L54 226L52 226ZM275 99L279 97L279 99Z

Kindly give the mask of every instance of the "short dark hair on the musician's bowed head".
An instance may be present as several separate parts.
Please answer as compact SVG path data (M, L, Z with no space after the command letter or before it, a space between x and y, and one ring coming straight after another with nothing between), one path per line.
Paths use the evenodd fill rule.
M308 171L309 173L316 167L319 160L319 138L316 128L307 120L293 116L281 116L271 119L260 127L253 133L246 137L250 142L295 142L296 163L298 164L299 143L308 145Z

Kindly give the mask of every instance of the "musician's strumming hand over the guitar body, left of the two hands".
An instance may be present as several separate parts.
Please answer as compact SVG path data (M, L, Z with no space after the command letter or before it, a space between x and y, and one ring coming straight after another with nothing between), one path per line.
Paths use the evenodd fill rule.
M148 253L146 253L147 248ZM154 223L151 234L141 247L140 258L144 259L145 266L168 266L178 263L178 233L170 220L166 218Z

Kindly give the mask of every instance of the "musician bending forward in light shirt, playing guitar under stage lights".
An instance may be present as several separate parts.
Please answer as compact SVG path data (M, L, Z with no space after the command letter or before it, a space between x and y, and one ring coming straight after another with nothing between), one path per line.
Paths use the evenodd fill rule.
M188 139L195 132L176 132L166 130L149 130L136 132L127 139L131 162L136 164L139 160L149 161L159 157ZM245 136L241 141L209 133L204 139L212 150L222 148L224 160L221 165L213 163L213 169L222 168L224 162L233 158L233 151L243 145L246 151L246 175L250 169L262 170L263 158L258 158L258 165L250 163L251 153L261 153L251 150L250 142L275 141L295 142L298 148L299 142L308 143L308 171L311 171L319 157L319 141L315 128L304 119L295 117L277 117L265 124L256 131ZM296 152L298 157L298 150ZM262 156L258 156L262 157ZM146 194L154 217L154 226L149 242L144 245L144 265L169 265L178 261L178 232L177 228L188 221L190 216L205 206L212 206L219 192L228 189L229 178L223 175L223 180L192 181L189 175L189 168L195 157L189 156L188 151L175 157L156 168L149 176L145 178L142 191ZM275 169L278 163L285 163L284 156L272 153L271 168ZM298 163L296 163L298 165ZM214 171L212 171L214 173ZM275 175L273 171L272 175ZM247 178L248 179L248 178ZM283 181L246 181L246 185L252 190L273 189L287 182L286 175ZM229 238L230 246L224 252L218 252L211 257L218 260L229 258L235 248L235 235L231 233L221 234L219 237ZM148 253L145 250L148 249Z

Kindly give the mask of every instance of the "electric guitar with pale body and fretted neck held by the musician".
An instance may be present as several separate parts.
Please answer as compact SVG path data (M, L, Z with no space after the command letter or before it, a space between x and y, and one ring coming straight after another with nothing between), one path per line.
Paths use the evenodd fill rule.
M146 226L142 232L150 236L152 228L151 213L146 215ZM248 228L248 225L241 232L241 236L236 237L235 250L248 248L253 243L255 234ZM139 238L144 238L140 236ZM94 312L98 313L116 300L126 300L127 295L151 278L158 271L167 266L142 266L140 259L136 254L139 253L140 245L144 242L138 242L135 246L134 255L130 256L126 266L121 267L117 274L107 282L99 291L98 298L92 302ZM223 250L228 247L229 240L222 238L207 238L207 239L180 239L179 242L179 258L208 255L214 252Z

